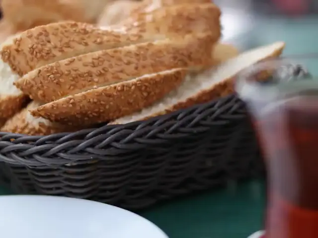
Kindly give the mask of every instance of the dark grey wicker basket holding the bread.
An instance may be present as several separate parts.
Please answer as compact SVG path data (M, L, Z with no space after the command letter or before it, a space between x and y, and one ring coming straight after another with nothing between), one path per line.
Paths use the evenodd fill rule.
M125 125L0 136L0 179L15 192L130 210L263 172L251 123L235 95Z

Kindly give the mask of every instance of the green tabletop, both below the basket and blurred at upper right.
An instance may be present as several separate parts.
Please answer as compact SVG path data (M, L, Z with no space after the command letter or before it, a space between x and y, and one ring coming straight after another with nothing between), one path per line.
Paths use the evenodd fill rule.
M232 23L227 24L231 27ZM283 40L287 43L285 55L313 53L318 52L317 25L318 17L259 19L230 41L245 49ZM305 63L318 73L316 63ZM0 189L0 194L10 191ZM170 238L246 238L261 228L263 207L262 182L249 181L237 187L177 198L140 215L158 225Z

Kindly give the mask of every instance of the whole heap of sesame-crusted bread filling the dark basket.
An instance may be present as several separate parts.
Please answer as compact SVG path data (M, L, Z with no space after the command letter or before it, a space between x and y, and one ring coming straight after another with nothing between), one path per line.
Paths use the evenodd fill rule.
M92 6L88 0L37 1L20 1L27 2L27 11L37 12L30 19L33 23L40 18L51 22L75 19L76 14L86 17L88 12L90 17L84 18L93 19L103 8L96 6L106 4L106 0ZM64 10L53 14L60 8L52 4L69 4L79 11L66 18ZM47 18L38 14L49 6ZM85 12L82 6L87 7ZM2 43L1 130L47 135L100 122L144 120L205 103L233 93L234 78L241 70L279 56L285 46L276 42L239 54L234 46L219 42L221 11L210 0L131 2L125 14L128 17L115 19L116 24L105 23L102 16L102 27L50 23Z

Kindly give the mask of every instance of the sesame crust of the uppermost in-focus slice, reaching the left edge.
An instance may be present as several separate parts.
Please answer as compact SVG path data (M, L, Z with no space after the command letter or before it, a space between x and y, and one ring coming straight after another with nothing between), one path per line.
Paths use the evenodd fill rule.
M20 76L40 66L82 54L147 42L140 34L102 30L73 21L22 32L0 49L1 59Z

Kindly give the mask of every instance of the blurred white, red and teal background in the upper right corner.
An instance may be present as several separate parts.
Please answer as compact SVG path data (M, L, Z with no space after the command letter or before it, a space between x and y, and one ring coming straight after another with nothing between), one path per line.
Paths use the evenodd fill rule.
M318 0L214 0L223 9L223 37L242 50L273 41L285 55L318 52Z

